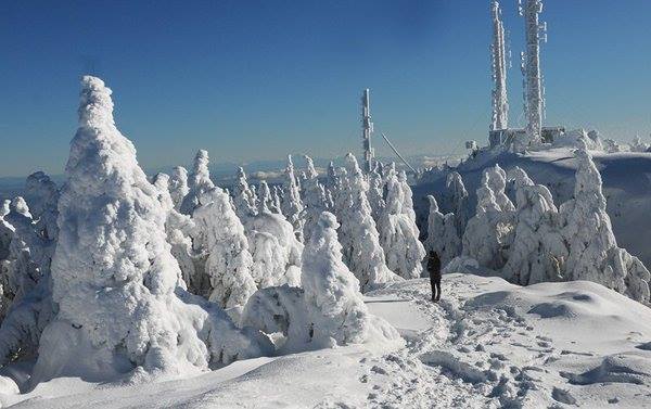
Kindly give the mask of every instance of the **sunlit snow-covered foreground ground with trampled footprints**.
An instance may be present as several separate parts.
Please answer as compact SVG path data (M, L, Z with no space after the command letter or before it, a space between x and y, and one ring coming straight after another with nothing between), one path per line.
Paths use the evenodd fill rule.
M60 378L23 386L0 370L3 407L649 407L651 309L599 284L520 287L448 274L439 304L426 280L367 294L407 340L397 350L347 346L237 361L193 378L115 385ZM13 379L14 381L12 381Z

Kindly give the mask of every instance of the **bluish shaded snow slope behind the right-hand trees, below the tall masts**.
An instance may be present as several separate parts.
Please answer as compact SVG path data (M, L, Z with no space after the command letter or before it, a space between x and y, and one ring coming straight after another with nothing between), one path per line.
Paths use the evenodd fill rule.
M651 153L590 153L601 172L603 193L608 200L607 212L617 244L639 257L646 266L651 266L651 218L648 217L651 214ZM515 166L523 168L534 182L549 188L557 206L572 197L576 161L570 149L551 149L526 155L508 152L495 155L486 152L455 169L463 177L470 193L469 207L472 214L482 171L495 164L507 171ZM413 187L414 205L420 220L426 220L427 194L434 194L442 213L454 210L447 200L445 183L445 178L438 175L438 178L423 180Z

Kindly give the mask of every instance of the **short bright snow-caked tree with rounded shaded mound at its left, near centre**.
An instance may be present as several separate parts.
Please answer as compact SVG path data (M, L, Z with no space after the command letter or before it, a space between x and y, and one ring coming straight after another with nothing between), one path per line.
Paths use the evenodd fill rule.
M305 246L302 289L258 291L246 305L243 324L282 333L283 353L361 343L400 343L397 331L372 316L359 282L342 261L336 218L323 213Z

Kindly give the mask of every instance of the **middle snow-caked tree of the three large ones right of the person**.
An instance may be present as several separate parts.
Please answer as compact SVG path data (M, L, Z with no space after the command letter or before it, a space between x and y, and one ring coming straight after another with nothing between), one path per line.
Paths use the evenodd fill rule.
M560 281L567 248L549 189L535 184L520 168L515 177L513 241L501 276L520 285ZM507 205L508 206L508 205Z

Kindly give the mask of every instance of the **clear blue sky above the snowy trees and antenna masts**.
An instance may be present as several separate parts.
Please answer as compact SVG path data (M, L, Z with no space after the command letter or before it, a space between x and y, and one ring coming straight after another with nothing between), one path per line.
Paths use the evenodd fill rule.
M547 125L651 131L651 1L546 0ZM522 120L523 20L510 31ZM488 0L0 0L0 176L61 172L79 76L114 90L144 167L359 152L359 94L405 154L463 151L490 117ZM379 154L388 150L378 141Z

